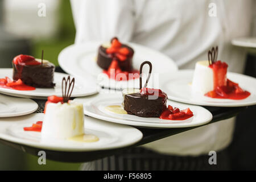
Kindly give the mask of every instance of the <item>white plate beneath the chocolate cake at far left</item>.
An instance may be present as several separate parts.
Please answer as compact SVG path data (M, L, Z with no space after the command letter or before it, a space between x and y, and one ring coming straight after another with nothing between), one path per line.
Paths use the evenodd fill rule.
M0 78L5 77L13 78L13 69L11 68L0 68ZM36 88L35 90L13 90L0 88L0 93L4 93L10 96L16 97L24 97L24 98L38 98L38 99L46 99L48 96L62 96L61 92L61 82L63 77L68 77L67 74L64 73L54 73L54 82L56 84L55 88ZM97 93L97 85L92 82L85 82L81 79L77 79L75 81L75 86L72 92L72 97L82 97L89 96Z

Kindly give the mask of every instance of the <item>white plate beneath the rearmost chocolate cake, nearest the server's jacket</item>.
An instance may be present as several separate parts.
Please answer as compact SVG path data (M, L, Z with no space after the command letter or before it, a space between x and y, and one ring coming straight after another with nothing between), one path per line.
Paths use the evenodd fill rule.
M109 79L102 73L102 69L96 63L98 47L102 42L86 42L82 44L73 44L64 48L58 57L60 67L65 72L82 78L94 78L100 86L105 88L127 88L139 85L139 79L129 81L115 81ZM133 58L133 66L139 70L141 63L145 60L151 61L153 68L152 73L167 73L176 71L177 65L170 57L153 49L140 46L134 43L127 43L133 47L135 53ZM72 60L72 61L71 61ZM147 73L147 69L143 69L143 73Z

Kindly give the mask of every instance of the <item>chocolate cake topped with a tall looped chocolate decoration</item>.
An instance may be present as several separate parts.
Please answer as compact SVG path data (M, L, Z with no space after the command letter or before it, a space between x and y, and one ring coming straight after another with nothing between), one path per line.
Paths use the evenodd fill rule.
M152 71L152 65L149 61L144 61L139 70L140 75L142 73L142 67L144 64L150 65L150 72L147 77L146 84L142 88L142 78L140 77L139 92L138 90L134 89L135 93L125 94L123 108L128 114L137 115L139 117L160 117L160 115L166 109L167 95L160 89L146 88ZM125 90L125 92L127 91Z

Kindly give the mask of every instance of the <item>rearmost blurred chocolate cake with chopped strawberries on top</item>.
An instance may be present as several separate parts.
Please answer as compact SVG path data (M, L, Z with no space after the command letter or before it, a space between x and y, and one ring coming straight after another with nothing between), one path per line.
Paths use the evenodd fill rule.
M122 71L131 71L133 69L133 48L119 43L117 38L111 40L110 47L100 46L98 48L97 64L102 69L108 69L112 60L118 61Z

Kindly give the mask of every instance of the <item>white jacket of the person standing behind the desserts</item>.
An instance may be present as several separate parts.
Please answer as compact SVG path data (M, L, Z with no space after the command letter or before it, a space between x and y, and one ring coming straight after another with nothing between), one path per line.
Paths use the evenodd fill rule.
M208 49L218 46L218 58L229 64L228 70L242 73L245 52L233 47L230 41L250 35L253 3L250 0L71 0L75 43L105 42L117 36L123 42L165 53L180 69L195 68L196 61L207 60ZM208 154L232 141L233 128L234 119L228 119L144 147L164 154Z

